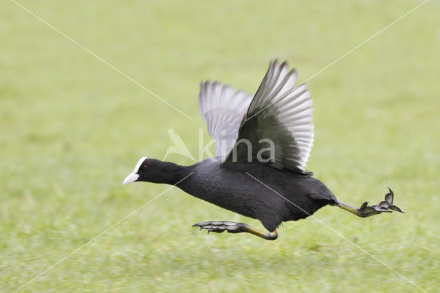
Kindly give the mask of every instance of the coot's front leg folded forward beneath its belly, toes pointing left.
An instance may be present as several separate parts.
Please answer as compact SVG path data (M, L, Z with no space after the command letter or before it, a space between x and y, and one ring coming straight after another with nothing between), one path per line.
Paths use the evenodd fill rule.
M278 232L274 230L274 232L264 233L260 230L249 226L244 223L235 223L233 221L204 221L202 223L197 223L192 225L192 227L199 227L201 229L207 229L209 232L217 232L221 233L223 231L228 231L230 233L241 233L247 232L258 237L264 238L266 240L275 240L278 237Z

